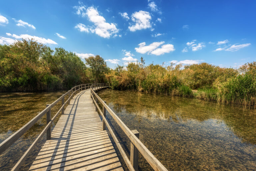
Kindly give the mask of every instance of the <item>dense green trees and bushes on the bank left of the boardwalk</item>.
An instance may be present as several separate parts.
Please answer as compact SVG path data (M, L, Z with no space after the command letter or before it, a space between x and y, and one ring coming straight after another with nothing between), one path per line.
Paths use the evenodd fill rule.
M53 90L105 82L109 72L99 55L84 63L63 48L52 50L33 40L0 45L0 91Z

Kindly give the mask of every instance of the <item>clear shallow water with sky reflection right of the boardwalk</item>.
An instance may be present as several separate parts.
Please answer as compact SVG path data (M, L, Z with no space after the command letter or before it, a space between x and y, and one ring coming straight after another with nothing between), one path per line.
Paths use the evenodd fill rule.
M110 89L98 95L168 170L256 170L255 109ZM129 139L107 118L129 154ZM139 167L151 169L141 155Z

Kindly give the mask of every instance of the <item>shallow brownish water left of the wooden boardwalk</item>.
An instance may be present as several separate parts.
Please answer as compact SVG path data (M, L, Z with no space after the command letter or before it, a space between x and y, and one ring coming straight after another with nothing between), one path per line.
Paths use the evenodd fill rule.
M0 93L0 143L20 129L28 121L41 112L46 104L51 104L66 91L41 93ZM52 108L52 117L61 107L61 102ZM56 119L55 123L57 122ZM11 170L24 152L46 126L44 115L32 128L21 136L12 146L0 155L0 170ZM53 124L54 126L54 124ZM39 142L20 170L28 170L46 135Z

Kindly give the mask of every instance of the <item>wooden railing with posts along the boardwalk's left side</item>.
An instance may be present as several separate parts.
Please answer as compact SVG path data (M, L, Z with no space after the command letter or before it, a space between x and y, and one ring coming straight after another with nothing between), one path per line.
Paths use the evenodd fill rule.
M16 171L20 168L20 166L23 164L23 162L26 160L26 158L29 156L31 151L34 149L34 147L37 145L39 140L43 137L44 133L46 132L46 139L51 139L51 124L53 123L54 119L62 112L64 113L64 107L68 103L70 103L70 100L73 98L73 96L80 92L82 89L86 90L91 88L92 83L89 84L81 84L73 87L71 90L63 94L60 98L55 100L52 104L46 105L46 108L41 111L37 116L35 116L32 120L30 120L26 125L24 125L22 128L20 128L18 131L16 131L14 134L12 134L10 137L8 137L6 140L4 140L0 144L0 154L2 154L8 147L10 147L16 140L18 140L27 130L29 130L39 119L46 114L46 127L43 129L43 131L39 134L39 136L35 139L35 141L31 144L31 146L28 148L28 150L23 154L23 156L20 158L20 160L16 163L16 165L12 168L12 171ZM97 85L97 87L104 87L106 84L104 83L96 83L94 85ZM66 102L64 102L65 97L68 96L68 99ZM59 101L62 101L62 106L58 110L58 112L54 115L53 118L51 118L51 108L55 106Z

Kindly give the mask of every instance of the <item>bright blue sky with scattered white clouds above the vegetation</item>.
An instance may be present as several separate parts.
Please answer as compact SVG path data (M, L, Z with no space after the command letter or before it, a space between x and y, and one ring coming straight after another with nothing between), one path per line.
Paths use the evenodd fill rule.
M253 0L2 0L0 44L34 38L81 58L100 55L111 68L141 56L239 67L256 61L255 9Z

